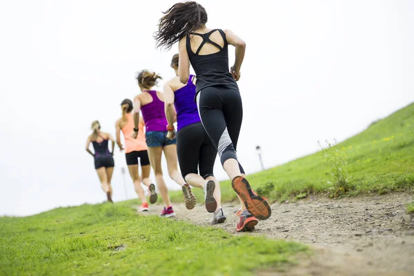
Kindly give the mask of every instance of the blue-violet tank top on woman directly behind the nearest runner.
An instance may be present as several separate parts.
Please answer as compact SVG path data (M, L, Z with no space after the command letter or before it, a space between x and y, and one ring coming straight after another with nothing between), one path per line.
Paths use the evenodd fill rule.
M194 101L195 85L193 75L190 75L186 86L175 91L174 106L177 111L177 131L200 120L197 103Z

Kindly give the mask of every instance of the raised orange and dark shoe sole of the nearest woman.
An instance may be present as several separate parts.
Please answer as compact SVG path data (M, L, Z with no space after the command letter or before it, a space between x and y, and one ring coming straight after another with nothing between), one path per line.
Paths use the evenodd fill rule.
M243 200L250 215L253 215L253 217L261 220L268 219L270 215L272 215L272 210L270 210L268 202L253 193L253 190L246 179L242 177L239 179L233 179L231 186L237 195L239 195L239 197Z

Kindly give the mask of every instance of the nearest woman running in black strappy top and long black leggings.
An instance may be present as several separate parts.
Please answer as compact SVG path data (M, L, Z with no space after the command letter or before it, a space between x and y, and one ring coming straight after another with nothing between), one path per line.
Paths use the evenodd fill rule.
M190 63L197 76L197 107L201 122L215 144L221 164L242 201L237 231L253 230L257 219L271 214L244 178L236 148L242 126L242 99L236 81L244 58L245 43L233 32L206 28L206 10L196 2L177 3L164 12L155 33L158 47L171 48L179 41L179 79L188 81ZM187 17L186 14L192 14ZM236 47L235 65L228 70L228 44ZM244 210L246 208L246 210Z

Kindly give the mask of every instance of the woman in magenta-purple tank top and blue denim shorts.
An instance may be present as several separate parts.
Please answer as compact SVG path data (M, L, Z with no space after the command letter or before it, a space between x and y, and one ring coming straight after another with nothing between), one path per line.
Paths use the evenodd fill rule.
M139 125L139 110L142 110L142 117L146 124L146 144L148 146L148 155L150 157L150 164L155 173L155 181L164 201L164 210L161 212L162 217L175 216L172 210L170 197L168 196L168 188L162 176L161 169L161 155L164 151L166 156L168 174L184 192L184 199L186 207L192 209L195 207L195 197L191 193L190 186L186 184L183 177L177 170L177 147L175 139L167 138L167 120L164 112L164 94L152 90L157 84L158 79L161 79L155 72L148 72L142 70L137 76L141 94L134 98L134 132L133 138L137 138Z

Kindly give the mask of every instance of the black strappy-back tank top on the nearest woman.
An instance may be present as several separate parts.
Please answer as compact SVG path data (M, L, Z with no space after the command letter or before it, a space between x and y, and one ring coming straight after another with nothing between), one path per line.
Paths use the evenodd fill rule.
M210 39L210 34L215 31L219 31L221 37L224 40L224 46L221 47ZM210 30L205 34L199 34L196 32L190 32L203 38L199 48L196 52L191 50L190 36L187 35L186 48L188 52L188 58L190 59L191 66L193 66L195 75L197 77L196 87L197 93L209 86L225 86L226 88L239 90L235 79L233 79L228 68L228 43L226 40L226 34L223 30L215 29ZM219 52L215 52L210 55L198 55L204 44L208 42L219 48ZM196 93L196 94L197 94Z

